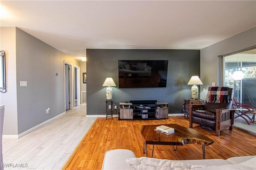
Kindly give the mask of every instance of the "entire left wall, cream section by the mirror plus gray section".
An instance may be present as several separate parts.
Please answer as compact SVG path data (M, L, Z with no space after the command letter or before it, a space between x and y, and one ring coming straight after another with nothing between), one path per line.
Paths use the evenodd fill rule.
M6 29L11 33L2 32ZM6 36L4 41L2 36ZM12 44L7 46L8 39ZM4 135L19 135L65 111L64 61L77 66L79 62L16 27L1 27L2 44L8 51L7 92L1 94L7 115L3 130ZM27 81L28 86L20 87L20 81ZM47 107L50 114L46 115Z

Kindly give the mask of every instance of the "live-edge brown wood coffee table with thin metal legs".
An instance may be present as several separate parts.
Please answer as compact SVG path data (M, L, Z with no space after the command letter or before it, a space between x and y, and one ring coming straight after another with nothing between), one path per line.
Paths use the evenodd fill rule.
M153 145L152 157L154 152L154 145L173 145L174 151L177 150L178 145L198 144L202 145L203 158L205 159L205 146L214 143L212 139L204 136L202 133L177 124L165 124L168 127L175 129L175 132L170 135L165 135L155 131L160 125L142 125L140 130L144 138L143 153L148 157L148 145ZM176 146L176 148L174 147Z

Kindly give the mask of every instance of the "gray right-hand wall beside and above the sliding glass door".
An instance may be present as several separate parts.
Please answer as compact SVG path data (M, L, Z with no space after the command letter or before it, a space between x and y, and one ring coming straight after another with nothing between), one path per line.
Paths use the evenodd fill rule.
M212 86L212 82L215 82L216 86L220 85L220 78L218 78L218 73L221 71L218 65L219 55L254 45L256 45L256 27L202 49L200 51L200 70L203 85L201 85L200 98L205 99L207 89L209 86ZM203 92L203 88L206 89L205 92Z

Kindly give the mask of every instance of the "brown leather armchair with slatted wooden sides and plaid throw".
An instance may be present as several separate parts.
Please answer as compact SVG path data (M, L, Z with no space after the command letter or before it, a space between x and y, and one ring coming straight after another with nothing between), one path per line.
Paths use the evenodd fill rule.
M233 89L222 86L209 87L205 104L190 104L189 127L193 123L201 127L215 131L220 136L220 131L229 127L233 130L234 109L232 106Z

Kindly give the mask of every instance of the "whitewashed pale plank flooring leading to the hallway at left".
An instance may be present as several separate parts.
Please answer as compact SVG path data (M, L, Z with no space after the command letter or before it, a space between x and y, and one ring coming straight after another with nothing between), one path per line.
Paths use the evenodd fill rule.
M4 164L23 164L4 170L60 170L95 119L86 117L86 106L80 106L19 139L3 139Z

